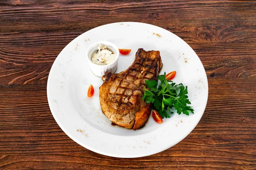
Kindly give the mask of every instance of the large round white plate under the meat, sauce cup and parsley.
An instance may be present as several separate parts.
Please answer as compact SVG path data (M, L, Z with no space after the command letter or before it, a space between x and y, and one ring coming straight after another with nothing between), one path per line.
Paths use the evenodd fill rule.
M102 40L131 49L128 55L120 54L116 73L131 65L138 48L160 51L160 74L177 71L173 81L188 86L195 114L174 113L162 124L150 116L145 127L136 131L112 126L99 104L102 80L92 74L86 59L89 45ZM90 84L95 90L91 98L87 97ZM61 51L49 73L47 97L56 122L75 142L103 155L135 158L166 150L194 129L206 107L208 82L197 54L175 34L145 23L112 23L81 34Z

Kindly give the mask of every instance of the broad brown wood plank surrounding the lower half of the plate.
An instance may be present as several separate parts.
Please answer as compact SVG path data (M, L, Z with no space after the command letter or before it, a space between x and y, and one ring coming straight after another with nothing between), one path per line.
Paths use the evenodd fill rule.
M207 108L192 133L168 150L136 159L102 156L73 142L49 111L47 85L2 85L0 165L3 169L253 169L255 85L256 79L209 79Z

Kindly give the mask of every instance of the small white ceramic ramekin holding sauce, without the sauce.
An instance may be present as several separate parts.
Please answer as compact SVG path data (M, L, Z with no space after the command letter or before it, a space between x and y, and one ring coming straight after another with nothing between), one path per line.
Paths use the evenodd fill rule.
M97 65L91 61L92 54L97 50L99 44L106 45L110 51L116 54L116 59L108 65ZM87 55L88 62L90 64L90 69L93 72L93 74L95 74L96 76L102 77L106 71L115 73L117 69L117 64L118 64L119 50L116 47L116 45L114 45L112 42L108 42L108 41L95 42L92 45L90 45L90 47L87 49L86 55Z

